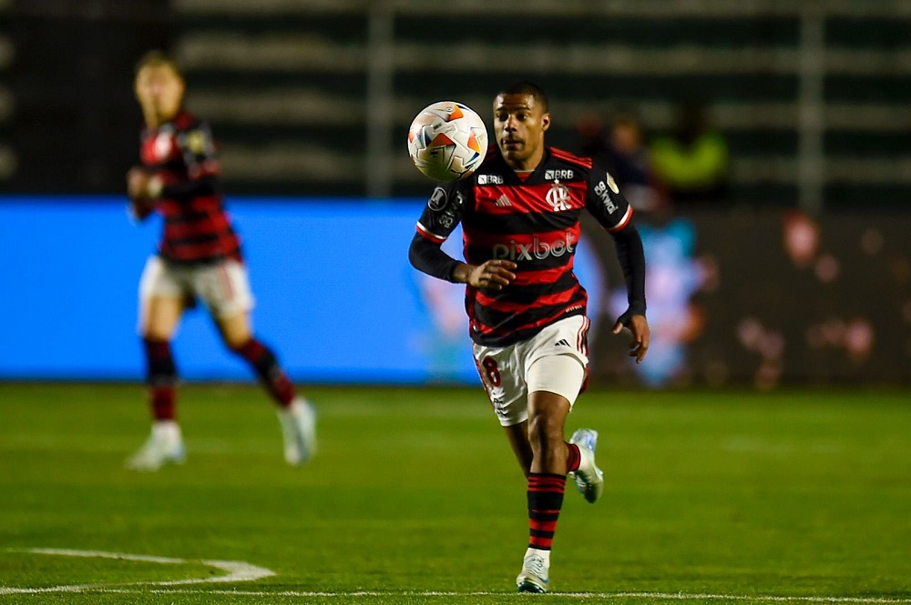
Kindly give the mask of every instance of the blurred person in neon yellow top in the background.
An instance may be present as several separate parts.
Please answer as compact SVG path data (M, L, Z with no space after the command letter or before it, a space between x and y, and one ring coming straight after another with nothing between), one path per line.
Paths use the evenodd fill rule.
M686 101L670 136L651 146L655 175L676 204L721 201L728 191L728 146L710 123L704 104Z

